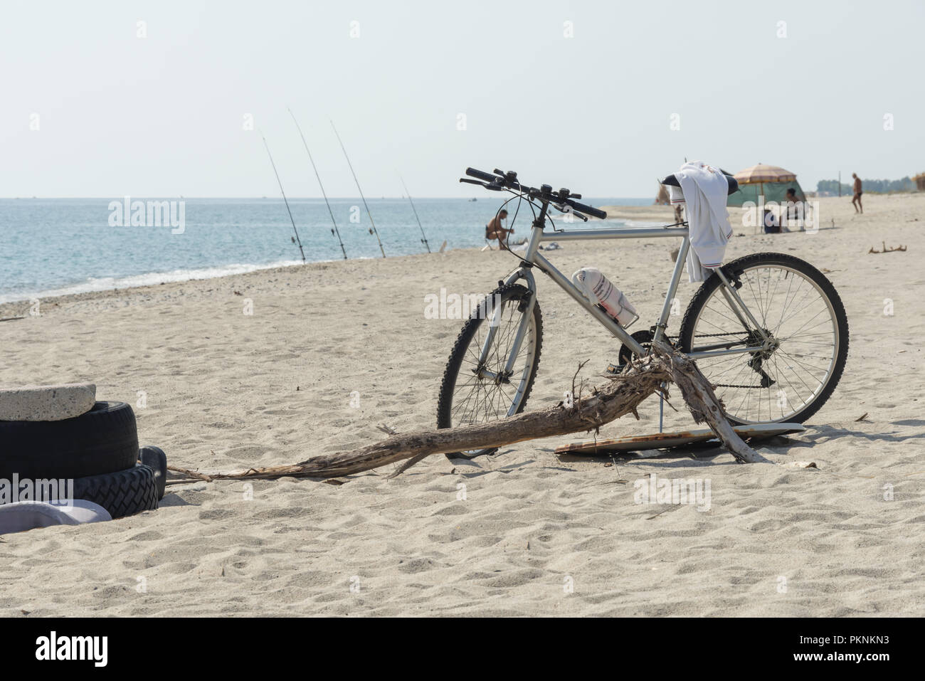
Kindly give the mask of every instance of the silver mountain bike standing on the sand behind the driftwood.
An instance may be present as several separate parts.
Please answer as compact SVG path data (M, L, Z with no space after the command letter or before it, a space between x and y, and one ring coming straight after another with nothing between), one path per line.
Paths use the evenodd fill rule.
M715 268L695 293L677 336L668 336L668 318L690 248L686 221L647 228L555 229L549 209L606 218L568 189L524 185L517 173L467 168L461 182L512 193L504 205L525 200L533 229L520 264L489 294L497 303L475 310L456 339L444 371L438 400L438 428L487 423L519 414L530 396L539 365L543 320L536 300L539 270L607 328L623 345L614 370L643 357L654 341L664 341L695 359L714 385L733 425L803 423L829 399L845 368L848 323L832 282L793 255L749 254ZM730 193L735 180L727 176ZM677 186L674 176L663 180ZM503 205L502 205L503 207ZM536 212L536 209L538 213ZM500 210L500 209L499 209ZM515 217L516 219L516 213ZM588 301L572 281L539 253L542 241L653 239L681 237L668 292L657 322L630 334L602 306ZM746 299L749 304L746 304ZM474 458L496 450L453 452Z

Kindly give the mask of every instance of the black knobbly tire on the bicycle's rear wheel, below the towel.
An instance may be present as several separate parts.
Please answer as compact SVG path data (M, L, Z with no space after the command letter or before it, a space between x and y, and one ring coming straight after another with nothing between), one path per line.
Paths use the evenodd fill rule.
M822 316L822 319L819 322L816 322L814 318L810 317L809 322L807 322L807 323L815 324L816 326L821 326L822 328L820 329L820 331L824 332L824 334L821 332L809 334L813 336L822 336L822 339L820 340L818 344L823 346L821 350L811 350L809 352L825 353L824 355L820 355L820 359L822 360L823 363L828 362L828 366L825 368L826 373L823 375L823 378L821 379L818 378L818 376L816 374L813 374L809 369L818 370L821 373L822 369L820 368L820 366L807 364L806 362L801 361L801 360L806 360L808 356L813 356L813 355L800 354L800 353L807 352L805 349L800 350L799 352L795 352L793 354L790 354L784 351L784 348L788 347L787 345L788 343L810 344L809 341L806 341L806 340L791 341L790 339L781 339L780 349L774 351L774 353L781 353L780 355L776 355L776 356L781 358L781 362L783 363L783 365L785 365L785 368L793 374L792 378L794 378L794 382L792 385L795 385L796 389L798 390L805 390L806 391L805 394L807 395L808 399L805 399L802 396L800 396L801 403L796 405L792 414L782 415L782 417L780 418L771 418L773 414L772 414L772 409L771 409L771 401L769 397L769 417L766 420L762 420L760 418L760 413L761 413L760 412L760 403L761 403L760 396L759 396L759 420L736 417L735 415L736 410L734 408L734 404L727 402L726 403L727 411L734 412L734 414L732 415L727 414L727 417L734 425L743 425L746 423L775 423L775 422L780 423L783 421L803 423L810 416L816 414L816 412L820 410L822 405L829 399L829 397L833 393L833 390L835 390L835 387L838 385L838 381L842 378L842 373L845 370L845 362L848 356L848 319L847 319L847 316L845 315L845 305L842 304L841 298L839 298L837 291L835 291L835 288L833 287L832 282L829 281L829 279L826 279L825 276L818 269L816 269L816 267L809 265L809 263L807 263L806 261L800 260L799 258L796 258L793 255L777 254L777 253L759 253L759 254L746 255L745 257L741 257L741 258L738 258L737 260L734 260L728 265L722 266L722 272L726 276L727 279L744 278L745 282L749 282L750 279L749 279L748 273L752 272L753 273L752 276L757 278L759 276L758 274L760 271L759 268L761 267L768 268L769 273L771 272L771 269L774 269L774 268L776 268L780 273L783 273L786 271L797 272L803 275L804 277L806 277L807 279L809 279L810 282L812 282L812 284L815 287L815 291L818 294L818 300L823 305L823 307L820 307L820 312L817 313L817 316L821 315L823 312L827 312L828 317ZM787 284L782 283L787 280L787 277L789 277L789 275L784 275L784 276L782 276L782 274L778 275L774 293L771 293L770 291L765 291L765 293L762 294L760 292L760 288L759 288L759 292L757 295L755 293L751 293L753 299L758 301L757 306L760 307L761 303L766 303L768 310L770 310L771 304L772 304L771 299L774 297L774 295L776 295L778 289L780 289L782 286L787 285ZM789 286L791 288L793 286L793 282L796 281L796 279L797 279L796 277L790 279ZM770 280L771 279L770 279L770 274L769 274L769 282ZM704 325L702 325L704 328L698 332L695 326L697 325L697 321L699 320L701 313L703 313L704 311L704 306L709 305L712 294L715 291L717 291L721 285L722 285L722 281L720 280L719 276L717 276L715 273L710 275L709 279L704 281L703 285L700 287L700 289L697 291L697 293L695 293L694 297L691 299L690 304L688 304L687 310L685 311L684 319L681 322L679 347L682 352L684 353L692 352L691 349L694 346L696 333L698 334L697 338L703 338L703 336L699 334L709 334L710 331L715 330L714 328L709 328L707 324L705 323ZM802 285L802 283L800 285ZM768 288L770 288L770 285ZM743 293L742 291L746 291L746 290L747 290L746 283L743 283L742 288L739 289L739 291L740 291L740 295L742 295L744 300L747 294ZM813 286L809 286L807 289L807 291L810 292L810 295L812 295L812 290L813 290ZM790 295L790 289L786 290L786 295L787 296ZM793 298L794 300L792 300L791 303L795 304L794 309L803 311L803 308L800 306L800 303L802 303L802 300L796 301L796 293L794 294ZM719 299L717 298L714 300L718 301ZM810 301L811 303L815 302L812 298L810 298ZM787 299L785 298L784 303L786 302L787 302ZM808 304L811 304L811 303L808 303ZM752 305L750 305L748 301L746 301L746 305L749 305L749 309L752 309L752 314L754 315L755 310L752 308ZM786 309L787 308L784 307L784 311L786 311ZM809 311L806 312L805 314L809 315L810 313L811 313L811 309L809 309ZM764 314L764 311L762 311L762 314ZM714 317L714 318L718 319L719 317ZM782 313L781 320L783 319L784 317ZM832 322L831 332L829 328L825 326L825 324L830 321ZM731 322L734 322L734 320L731 320ZM771 316L771 322L773 322L773 316ZM783 321L778 321L777 328L780 328L782 323ZM770 326L771 325L769 324L769 327ZM730 328L732 327L734 327L734 323L731 323ZM809 327L808 329L813 329L813 327ZM769 328L768 330L773 330L774 333L778 333L776 328L775 329ZM834 348L834 352L831 353L831 358L829 358L829 351L826 350L824 347L824 344L828 342L827 339L830 333L832 336L832 341L831 341L832 348ZM719 334L716 334L716 335L719 335ZM734 334L728 333L725 335L732 336ZM740 329L739 335L740 336L744 335L741 329ZM806 334L804 334L804 336L805 335ZM707 342L707 341L700 341L700 342L701 342L701 347L702 347L702 343ZM800 348L801 346L791 344L789 347L793 349L794 347ZM743 365L750 366L748 365L749 358L755 357L756 355L754 353L749 353L747 355L736 355L736 356L742 357ZM784 371L779 370L779 365L774 364L776 362L776 360L774 360L774 357L775 355L771 353L771 358L764 360L765 362L764 365L762 364L758 365L759 369L764 368L764 367L770 368L771 366L773 366L774 368L772 369L772 371L778 372L776 374L778 378L783 377L783 380L786 380L788 375ZM800 359L796 359L796 357L800 357ZM744 375L743 375L743 373L741 373L743 372L743 367L740 367L739 368L740 373L737 375L739 377L738 381L735 378L731 378L732 380L735 381L734 383L730 384L729 386L722 386L722 384L724 383L722 378L719 380L715 379L715 378L719 378L719 376L722 376L722 375L717 375L715 374L715 372L713 376L711 376L710 374L709 365L711 361L714 361L714 360L712 360L712 358L710 358L710 360L708 360L707 358L701 358L697 362L697 365L700 367L700 370L704 373L704 375L708 378L708 380L710 380L711 383L721 385L721 387L716 390L717 397L720 397L721 399L723 399L723 390L740 390L743 392L743 394L746 394L747 389L745 388L744 385L737 385L738 381L756 380L754 375L757 374L758 371L749 368L744 371ZM729 374L730 371L734 370L734 367L735 367L734 362L736 360L732 358L728 360L722 360L722 359L717 358L715 361L716 362L726 361L726 362L733 363L732 365L733 368L723 370L723 373L727 375ZM801 377L808 377L810 378L810 380L807 383L805 381L805 378L801 378ZM803 385L806 386L806 389L800 386L800 384L796 382L796 379L800 379L804 381ZM758 379L758 380L760 383L761 379ZM814 381L818 381L819 383L819 385L815 389L813 389L811 385ZM784 384L783 382L775 381L774 385L778 385L780 389ZM756 385L756 386L753 386L753 388L758 389L759 386ZM765 386L761 390L767 390L770 388L771 386ZM755 394L754 391L752 392L752 394ZM750 400L750 398L748 399ZM737 399L735 400L735 402L737 402ZM784 400L784 402L786 402L786 399ZM787 408L789 408L789 404ZM782 412L783 412L783 408L782 408Z

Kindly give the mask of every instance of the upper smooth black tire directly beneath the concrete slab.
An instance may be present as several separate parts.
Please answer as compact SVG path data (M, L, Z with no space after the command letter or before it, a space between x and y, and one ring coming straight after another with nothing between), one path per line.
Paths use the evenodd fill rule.
M131 468L138 427L125 402L96 402L63 421L0 421L0 477L87 477Z

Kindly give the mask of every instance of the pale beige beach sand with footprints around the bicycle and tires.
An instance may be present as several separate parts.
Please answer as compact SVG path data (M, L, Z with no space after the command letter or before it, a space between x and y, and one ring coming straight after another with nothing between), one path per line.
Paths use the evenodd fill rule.
M475 464L432 456L395 479L389 466L339 486L171 486L155 512L0 539L0 614L925 614L925 195L864 203L855 216L850 198L822 199L816 234L755 235L731 211L743 236L727 260L795 254L825 268L845 303L838 389L804 433L758 446L818 470L734 464L716 449L558 459L555 447L590 437L576 434ZM671 221L670 208L620 210ZM598 266L648 322L674 241L565 242L549 258L566 274ZM908 250L868 254L882 241ZM94 382L97 399L135 405L142 444L173 465L296 463L379 440L376 424L432 427L462 322L425 319L425 295L487 292L515 265L451 251L50 298L41 316L8 303L0 317L27 318L0 324L0 385ZM603 382L619 347L538 284L545 333L528 408L559 402L579 361ZM685 276L682 311L695 290ZM672 402L666 429L692 427L677 390ZM656 432L658 407L651 398L601 437ZM636 504L635 480L653 473L709 481L709 510Z

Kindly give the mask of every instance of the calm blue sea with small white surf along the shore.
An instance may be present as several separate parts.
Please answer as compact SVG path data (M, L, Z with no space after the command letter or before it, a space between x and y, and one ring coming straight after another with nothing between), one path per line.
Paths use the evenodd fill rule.
M305 260L342 259L324 200L289 203ZM330 200L349 258L382 256L370 216L387 256L426 253L428 245L438 251L444 241L447 250L484 246L485 225L499 204L489 198L414 199L422 236L407 198L367 198L368 213L360 199ZM509 209L512 217L513 204ZM531 221L524 203L512 240L527 236ZM294 236L279 198L0 199L0 303L301 265Z

